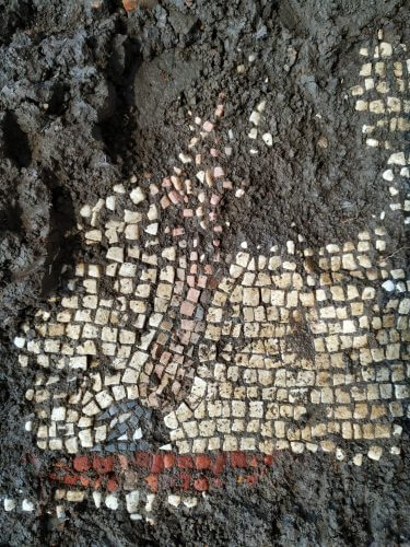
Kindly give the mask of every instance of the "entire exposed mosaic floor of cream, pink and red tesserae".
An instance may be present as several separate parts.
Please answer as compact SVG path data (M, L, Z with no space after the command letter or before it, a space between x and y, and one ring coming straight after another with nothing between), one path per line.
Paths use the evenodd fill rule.
M150 477L184 455L179 463L201 472L225 453L223 465L263 469L278 450L324 451L355 465L400 454L410 279L389 251L387 220L410 223L410 59L405 46L378 38L360 49L349 96L363 153L378 147L386 159L379 185L391 203L352 241L311 248L301 234L265 254L243 242L224 256L230 228L220 202L246 190L221 166L234 147L219 130L223 94L209 119L189 113L192 138L168 177L136 173L84 203L79 229L89 258L14 340L22 371L36 371L26 434L42 450L77 456L73 469L89 474L89 482L75 479L56 499L81 501L95 480L90 473L101 478L119 458L127 509L141 517L133 453L151 458L142 465L150 469L148 513L159 490ZM267 113L265 98L250 113L249 161L272 146ZM168 442L155 447L145 439L153 410L168 430ZM198 492L211 485L202 475L191 476ZM116 481L105 494L110 509L117 489ZM102 493L93 496L99 507ZM168 502L197 503L189 492L171 493ZM15 503L7 499L4 508Z

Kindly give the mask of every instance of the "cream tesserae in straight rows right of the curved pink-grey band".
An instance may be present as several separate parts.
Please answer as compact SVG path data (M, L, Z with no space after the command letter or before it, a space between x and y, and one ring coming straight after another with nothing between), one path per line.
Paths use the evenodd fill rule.
M304 249L300 271L293 242L282 256L236 255L208 309L189 408L165 417L180 452L328 452L338 438L400 434L391 418L407 412L410 300L380 294L380 281L405 272L378 269L376 232L328 245L317 263ZM301 331L312 358L297 353Z

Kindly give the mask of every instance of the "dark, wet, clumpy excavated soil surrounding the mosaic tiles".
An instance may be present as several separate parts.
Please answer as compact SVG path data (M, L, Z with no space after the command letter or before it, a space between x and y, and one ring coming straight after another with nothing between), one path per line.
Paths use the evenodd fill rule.
M206 115L223 92L221 130L237 143L261 98L274 113L265 120L272 149L233 158L245 196L222 203L224 253L301 233L314 246L347 241L389 199L383 159L363 153L345 90L356 83L358 48L378 28L410 43L406 0L141 3L127 13L119 0L0 0L0 491L32 493L44 507L42 469L54 456L22 435L33 377L21 374L12 340L74 261L80 207L132 174L165 176L188 141L188 109ZM389 228L396 253L405 235ZM405 546L408 454L403 443L400 458L362 467L282 454L254 489L229 484L195 511L163 504L154 527L87 502L63 522L2 512L0 543Z

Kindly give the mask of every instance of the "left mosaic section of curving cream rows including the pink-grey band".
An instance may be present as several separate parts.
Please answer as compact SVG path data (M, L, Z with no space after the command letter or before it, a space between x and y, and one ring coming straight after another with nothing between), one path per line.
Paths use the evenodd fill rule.
M192 163L190 178L177 166L161 184L132 177L128 189L117 184L105 200L82 207L79 229L101 261L77 264L67 294L38 311L35 336L26 325L27 336L15 339L21 365L38 370L26 394L36 405L38 447L147 450L147 408L189 400L204 330L199 299L220 260L216 207L232 188L219 151L211 148L210 167L195 148L212 146L222 114L219 104L214 121L194 118L197 136L179 154L183 165ZM169 209L180 223L161 222ZM214 234L208 252L200 253L199 237L185 238L187 225Z

